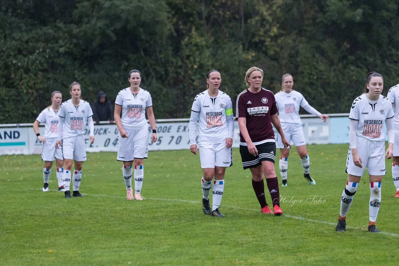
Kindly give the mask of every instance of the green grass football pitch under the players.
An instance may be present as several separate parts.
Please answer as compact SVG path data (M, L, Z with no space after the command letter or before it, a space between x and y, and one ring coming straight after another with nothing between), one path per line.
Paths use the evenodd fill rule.
M85 197L73 199L57 191L55 165L50 191L41 191L40 156L0 156L0 264L397 264L399 199L393 197L392 161L382 183L382 232L367 232L370 191L364 175L347 215L348 230L337 233L348 144L307 148L317 185L304 179L294 148L288 187L280 187L280 217L260 212L238 149L226 170L224 218L202 213L199 156L189 150L149 153L144 201L126 200L116 153L88 154L80 189ZM267 200L271 205L268 193Z

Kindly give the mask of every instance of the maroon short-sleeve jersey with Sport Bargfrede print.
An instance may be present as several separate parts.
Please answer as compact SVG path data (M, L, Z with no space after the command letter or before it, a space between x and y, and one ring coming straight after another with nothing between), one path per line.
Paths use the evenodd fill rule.
M276 113L275 97L267 89L262 88L259 93L246 89L237 97L236 117L247 118L249 137L255 145L275 141L270 116ZM247 145L241 132L240 144Z

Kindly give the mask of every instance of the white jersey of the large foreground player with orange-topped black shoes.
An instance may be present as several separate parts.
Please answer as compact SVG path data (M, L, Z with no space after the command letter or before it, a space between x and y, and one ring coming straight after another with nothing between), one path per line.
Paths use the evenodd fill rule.
M352 103L349 119L358 120L356 136L373 141L385 141L383 124L393 118L391 101L380 95L378 100L370 100L365 94Z

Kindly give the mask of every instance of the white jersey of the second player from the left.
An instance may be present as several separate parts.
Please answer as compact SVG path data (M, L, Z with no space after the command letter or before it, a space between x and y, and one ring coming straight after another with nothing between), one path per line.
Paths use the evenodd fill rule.
M61 104L58 116L64 118L62 128L62 138L69 138L85 134L87 118L93 116L90 104L85 100L79 100L79 105L75 106L72 99Z

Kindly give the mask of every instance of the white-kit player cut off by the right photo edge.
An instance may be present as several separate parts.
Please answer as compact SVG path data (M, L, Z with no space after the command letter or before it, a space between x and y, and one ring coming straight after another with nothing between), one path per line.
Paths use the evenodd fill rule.
M393 126L395 128L395 142L393 144L393 158L392 158L392 179L393 185L396 188L395 198L399 198L399 84L393 86L388 91L387 98L392 102L393 112Z

